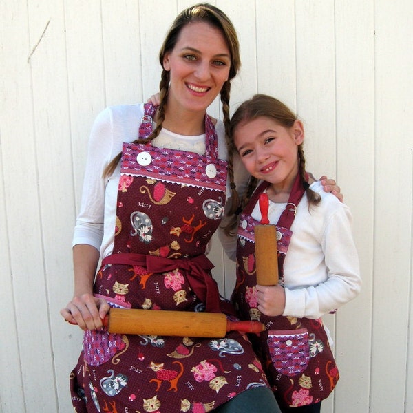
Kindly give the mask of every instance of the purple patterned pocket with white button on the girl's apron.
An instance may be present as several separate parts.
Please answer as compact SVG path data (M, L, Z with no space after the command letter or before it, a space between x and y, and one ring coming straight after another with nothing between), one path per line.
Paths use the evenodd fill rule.
M277 372L295 376L304 372L310 361L310 346L306 328L269 330L268 350Z

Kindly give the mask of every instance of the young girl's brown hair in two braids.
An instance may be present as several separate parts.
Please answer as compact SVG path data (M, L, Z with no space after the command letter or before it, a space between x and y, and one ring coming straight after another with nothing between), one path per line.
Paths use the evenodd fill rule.
M282 125L286 128L293 127L295 120L297 120L297 116L288 106L286 106L276 98L273 98L272 96L265 94L255 94L251 99L246 100L237 108L237 110L233 114L233 117L231 118L229 131L231 139L228 142L229 169L233 168L233 157L235 153L237 153L237 148L235 147L233 140L235 129L237 129L240 123L251 122L251 120L255 120L256 118L259 118L261 116L271 118L275 120L279 125ZM318 193L315 193L310 189L306 180L306 159L304 158L304 149L302 143L298 145L298 158L299 174L301 175L303 186L306 189L308 204L318 204L321 198ZM231 220L225 227L225 232L228 235L233 235L237 226L237 213L244 209L248 200L251 198L253 191L257 187L257 178L251 176L248 182L248 187L246 188L244 195L240 199L233 182L233 173L229 173L229 176L231 180L232 203L230 209L228 210L228 215L232 216Z

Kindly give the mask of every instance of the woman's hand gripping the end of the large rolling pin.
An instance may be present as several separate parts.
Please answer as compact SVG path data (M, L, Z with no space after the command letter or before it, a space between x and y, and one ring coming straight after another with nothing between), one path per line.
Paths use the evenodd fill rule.
M66 321L77 324L82 330L97 330L102 328L102 320L109 308L105 299L83 294L74 297L60 313Z

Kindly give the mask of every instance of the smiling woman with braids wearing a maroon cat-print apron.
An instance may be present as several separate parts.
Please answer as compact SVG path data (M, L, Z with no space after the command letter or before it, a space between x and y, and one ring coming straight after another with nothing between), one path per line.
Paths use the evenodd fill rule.
M235 314L220 299L205 255L226 198L224 124L240 67L233 25L207 4L184 10L160 63L159 107L108 108L90 137L74 233L74 298L61 310L85 330L70 379L74 408L279 412L245 335L195 339L102 329L109 306ZM218 93L224 124L206 114Z

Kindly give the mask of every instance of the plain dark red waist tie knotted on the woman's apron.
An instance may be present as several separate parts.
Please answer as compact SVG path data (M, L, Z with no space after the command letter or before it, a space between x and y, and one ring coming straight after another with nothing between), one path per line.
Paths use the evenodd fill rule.
M149 273L166 273L176 268L187 270L188 282L193 292L205 304L210 313L221 313L218 284L209 271L214 267L206 255L193 258L165 258L136 253L111 254L103 258L102 264L125 264L145 267Z

